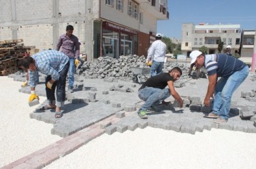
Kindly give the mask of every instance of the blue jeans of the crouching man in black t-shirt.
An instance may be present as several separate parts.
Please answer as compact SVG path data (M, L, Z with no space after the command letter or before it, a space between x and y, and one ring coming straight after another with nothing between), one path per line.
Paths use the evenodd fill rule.
M145 87L139 90L139 99L145 101L145 103L141 106L142 110L147 110L153 104L157 104L159 101L163 101L170 97L170 90L169 88L152 88L152 87Z

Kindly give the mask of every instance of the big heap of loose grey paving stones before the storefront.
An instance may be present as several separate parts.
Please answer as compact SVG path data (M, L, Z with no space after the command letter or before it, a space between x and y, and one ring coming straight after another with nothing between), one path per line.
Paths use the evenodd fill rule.
M168 72L171 68L180 67L183 72L183 77L187 77L189 66L181 63L165 63L163 72ZM142 55L121 55L119 59L112 57L99 57L93 62L85 62L78 74L84 75L89 79L104 79L114 77L115 79L134 79L132 68L150 69L146 65L146 57ZM149 72L148 72L149 75Z

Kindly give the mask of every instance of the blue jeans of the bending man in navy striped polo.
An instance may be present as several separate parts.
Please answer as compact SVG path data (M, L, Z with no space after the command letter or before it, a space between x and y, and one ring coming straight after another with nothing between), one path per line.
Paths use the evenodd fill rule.
M248 66L233 73L229 77L222 77L215 86L215 99L213 102L213 113L228 119L231 97L233 92L242 84L249 74Z

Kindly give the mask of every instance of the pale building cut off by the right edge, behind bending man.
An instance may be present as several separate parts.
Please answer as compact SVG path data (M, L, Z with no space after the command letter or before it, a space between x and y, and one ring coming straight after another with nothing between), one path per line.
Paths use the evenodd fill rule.
M251 60L253 56L254 38L255 38L255 30L242 31L240 59L248 64L251 64Z

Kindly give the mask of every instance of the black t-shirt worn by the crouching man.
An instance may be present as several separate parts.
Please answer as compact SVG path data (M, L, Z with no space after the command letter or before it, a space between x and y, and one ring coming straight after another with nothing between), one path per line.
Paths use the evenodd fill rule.
M153 77L150 77L148 80L143 83L141 88L139 90L147 87L152 87L152 88L161 88L164 89L168 84L167 82L169 81L174 81L172 76L169 73L161 73L159 75L155 75Z

